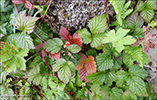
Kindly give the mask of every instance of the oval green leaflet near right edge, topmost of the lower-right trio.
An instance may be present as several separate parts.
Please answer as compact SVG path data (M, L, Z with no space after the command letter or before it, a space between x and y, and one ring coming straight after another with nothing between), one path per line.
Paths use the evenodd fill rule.
M132 65L129 67L129 73L131 76L137 76L142 79L148 75L147 71L145 71L143 68L136 65Z

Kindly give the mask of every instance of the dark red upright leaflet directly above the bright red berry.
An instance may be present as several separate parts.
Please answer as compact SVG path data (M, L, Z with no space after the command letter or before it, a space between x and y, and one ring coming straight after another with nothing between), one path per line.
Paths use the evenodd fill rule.
M61 36L61 40L71 41L71 39L72 39L72 36L69 34L67 29L63 26L61 26L61 28L60 28L59 35Z

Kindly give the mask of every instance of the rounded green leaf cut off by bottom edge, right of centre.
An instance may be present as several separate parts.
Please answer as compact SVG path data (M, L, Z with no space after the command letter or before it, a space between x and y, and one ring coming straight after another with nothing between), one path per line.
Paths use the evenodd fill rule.
M122 100L123 99L122 95L123 95L122 89L119 89L117 87L111 89L110 98L112 100L118 100L118 99Z

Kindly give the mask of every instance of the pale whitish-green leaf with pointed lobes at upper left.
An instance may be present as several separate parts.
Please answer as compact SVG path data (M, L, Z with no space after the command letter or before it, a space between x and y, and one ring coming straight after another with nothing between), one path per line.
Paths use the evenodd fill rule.
M15 17L15 26L18 30L23 31L24 33L27 32L29 34L33 32L35 22L38 19L39 18L37 17L26 17L26 10L24 10Z

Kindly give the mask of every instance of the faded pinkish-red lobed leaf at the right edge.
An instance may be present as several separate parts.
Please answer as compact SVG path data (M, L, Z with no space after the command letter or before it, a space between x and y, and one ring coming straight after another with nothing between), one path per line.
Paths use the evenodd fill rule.
M154 38L155 36L153 36L153 33L150 31L148 33L148 28L143 26L143 38L142 37L139 37L135 43L132 44L132 47L136 46L136 45L139 45L139 44L142 44L142 47L143 47L143 52L148 54L148 50L150 47L155 47L155 45L149 40L149 39L152 39Z

